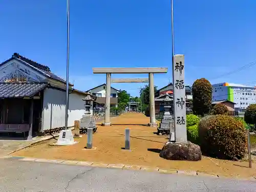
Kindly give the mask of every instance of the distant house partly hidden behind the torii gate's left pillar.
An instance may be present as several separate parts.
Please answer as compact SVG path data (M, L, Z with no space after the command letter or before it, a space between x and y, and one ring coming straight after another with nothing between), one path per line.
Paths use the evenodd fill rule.
M91 93L92 95L97 96L95 102L93 102L93 109L97 111L103 111L105 109L105 97L106 97L106 84L101 84L95 88L87 90L86 92ZM110 94L110 107L117 108L118 103L118 96L117 94L120 91L111 87L111 94Z

